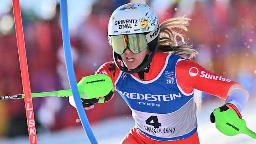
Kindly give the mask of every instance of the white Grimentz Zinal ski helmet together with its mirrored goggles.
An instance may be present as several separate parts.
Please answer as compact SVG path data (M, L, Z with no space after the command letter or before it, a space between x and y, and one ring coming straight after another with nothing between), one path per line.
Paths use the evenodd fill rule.
M159 22L156 13L146 4L128 3L119 6L112 13L108 22L108 40L113 48L113 57L117 67L128 74L137 73L152 61L159 41ZM139 53L149 47L152 54L147 55L135 69L128 70L120 66L117 59L125 49ZM123 65L123 64L122 64Z

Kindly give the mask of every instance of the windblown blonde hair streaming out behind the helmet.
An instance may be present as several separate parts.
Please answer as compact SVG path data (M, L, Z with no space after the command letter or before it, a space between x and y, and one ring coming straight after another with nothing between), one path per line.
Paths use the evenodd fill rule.
M189 18L175 17L165 20L160 24L160 39L158 44L158 52L172 53L180 55L184 59L192 59L195 57L197 51L193 49L192 44L185 41L185 36L179 32L178 29L187 31Z

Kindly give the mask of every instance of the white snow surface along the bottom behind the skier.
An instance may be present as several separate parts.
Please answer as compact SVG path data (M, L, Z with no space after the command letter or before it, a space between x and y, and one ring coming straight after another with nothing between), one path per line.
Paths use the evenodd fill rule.
M210 122L209 115L213 109L221 106L220 102L211 102L202 105L197 112L198 134L201 144L256 144L256 140L245 135L226 136L215 128ZM246 125L252 131L256 131L256 105L249 102L241 113ZM116 117L100 121L91 125L98 144L119 144L126 133L134 126L134 120L129 116ZM72 127L61 131L54 131L37 135L38 144L90 144L84 129ZM28 137L1 138L0 144L29 144Z

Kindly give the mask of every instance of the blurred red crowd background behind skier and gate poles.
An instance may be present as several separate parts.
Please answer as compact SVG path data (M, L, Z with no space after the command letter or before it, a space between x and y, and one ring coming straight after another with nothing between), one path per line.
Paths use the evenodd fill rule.
M3 0L6 2L5 0ZM9 0L10 1L10 0ZM26 2L24 2L26 1ZM32 93L69 89L63 52L59 1L20 0L28 72ZM31 0L32 3L33 0ZM171 17L191 18L187 35L199 54L195 61L208 70L238 81L256 94L255 0L88 0L68 2L70 41L77 82L112 61L108 44L108 20L115 8L128 2L151 6L163 22ZM3 2L0 2L0 4ZM8 2L7 2L8 3ZM39 11L39 12L38 12ZM22 94L12 3L0 13L0 96ZM200 104L216 98L202 93ZM221 106L221 104L220 104ZM37 133L81 126L67 97L33 98ZM130 115L118 93L110 102L86 111L90 123ZM28 136L23 99L0 101L0 137Z

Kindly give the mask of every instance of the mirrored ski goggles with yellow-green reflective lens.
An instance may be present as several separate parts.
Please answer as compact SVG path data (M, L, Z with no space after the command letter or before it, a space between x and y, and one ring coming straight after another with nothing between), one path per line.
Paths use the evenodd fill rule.
M148 47L148 42L144 34L124 34L111 36L111 44L115 53L121 55L125 49L130 49L137 54Z

